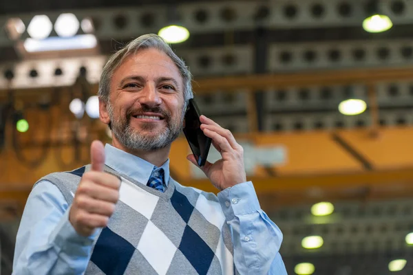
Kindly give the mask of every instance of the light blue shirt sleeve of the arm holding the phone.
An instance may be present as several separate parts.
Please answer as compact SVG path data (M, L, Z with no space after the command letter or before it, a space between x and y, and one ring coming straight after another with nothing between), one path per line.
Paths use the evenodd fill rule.
M251 181L218 193L232 230L234 263L240 274L286 275L279 248L282 232L261 210Z

